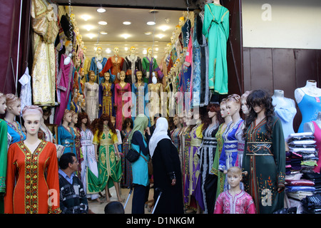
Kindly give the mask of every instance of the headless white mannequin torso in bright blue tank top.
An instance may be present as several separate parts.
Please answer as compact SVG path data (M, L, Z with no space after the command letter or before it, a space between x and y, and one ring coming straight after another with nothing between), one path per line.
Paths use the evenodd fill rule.
M302 113L302 122L297 133L302 133L303 125L315 120L321 111L321 89L317 88L317 82L307 80L304 87L295 89L295 100Z

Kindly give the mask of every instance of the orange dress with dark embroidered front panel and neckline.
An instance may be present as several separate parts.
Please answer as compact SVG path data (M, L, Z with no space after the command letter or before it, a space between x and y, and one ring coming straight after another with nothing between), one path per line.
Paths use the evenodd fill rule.
M54 143L41 140L34 153L30 152L24 141L12 144L8 150L6 179L5 214L61 212L58 159Z

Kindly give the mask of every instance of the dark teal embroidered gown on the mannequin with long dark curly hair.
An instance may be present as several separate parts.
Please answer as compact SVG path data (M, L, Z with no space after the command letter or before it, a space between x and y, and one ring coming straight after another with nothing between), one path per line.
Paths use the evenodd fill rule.
M266 119L255 126L253 122L246 132L243 155L245 191L255 202L258 214L272 214L284 207L285 140L279 118L272 120L272 139L266 138Z

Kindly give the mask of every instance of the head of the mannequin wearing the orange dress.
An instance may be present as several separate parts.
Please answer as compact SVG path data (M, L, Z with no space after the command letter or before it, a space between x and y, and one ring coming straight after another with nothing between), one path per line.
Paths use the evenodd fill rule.
M37 105L27 105L22 110L22 118L24 118L24 127L28 135L38 135L43 115L42 109Z

